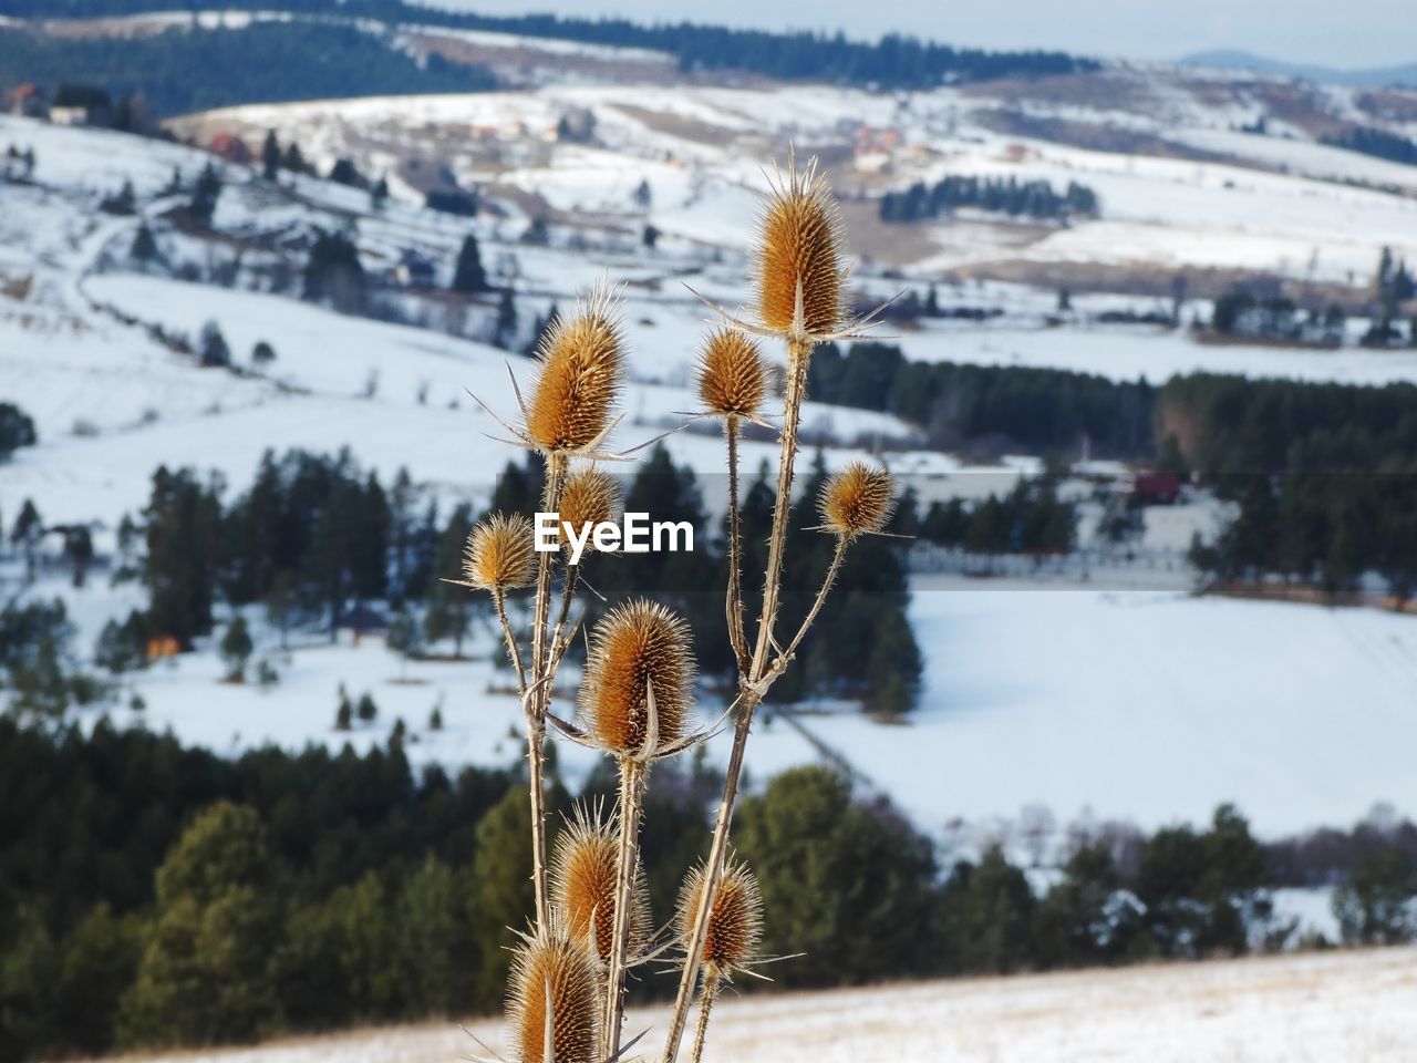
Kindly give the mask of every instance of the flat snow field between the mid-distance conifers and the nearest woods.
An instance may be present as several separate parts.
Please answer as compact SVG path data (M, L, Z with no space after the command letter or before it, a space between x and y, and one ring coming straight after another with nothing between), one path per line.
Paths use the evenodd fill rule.
M1417 809L1410 617L962 577L917 577L913 590L920 709L894 724L849 704L769 714L748 746L754 780L816 763L825 747L934 835L956 819L988 829L1029 805L1063 822L1153 829L1204 823L1229 801L1267 838L1348 825L1379 802ZM359 646L300 636L285 663L258 631L256 656L278 660L278 686L221 683L217 656L201 652L132 676L140 713L109 712L221 751L364 748L401 717L415 763L504 765L520 755L517 702L492 666L502 653L492 632L469 645L472 660L405 668L377 636ZM563 682L574 687L574 672ZM373 694L376 724L334 730L341 683ZM438 733L427 729L435 704ZM706 721L716 704L701 707ZM728 741L710 743L711 761ZM580 782L592 757L561 746Z

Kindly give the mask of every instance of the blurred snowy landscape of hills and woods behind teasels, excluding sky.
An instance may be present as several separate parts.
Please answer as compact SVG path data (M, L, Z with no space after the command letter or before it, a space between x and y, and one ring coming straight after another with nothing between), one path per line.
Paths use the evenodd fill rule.
M782 985L891 985L745 992L708 1057L1403 1057L1410 71L383 1L7 9L0 1057L391 1020L429 1025L241 1054L475 1050L449 1016L496 1011L526 907L520 850L493 859L521 713L490 612L439 577L536 485L472 395L514 411L509 367L604 278L615 444L677 427L694 292L750 299L789 146L837 191L852 298L894 300L815 356L803 497L873 458L911 539L843 573L755 731L741 846L769 927L811 938L771 941L808 952ZM750 437L744 468L774 454ZM591 581L721 625L723 461L690 427L626 466L703 549ZM726 753L666 772L656 901ZM606 787L570 743L555 768L563 806ZM259 840L228 863L238 826ZM188 865L234 892L164 890ZM816 892L847 867L845 900ZM1285 955L1217 960L1244 952ZM971 978L900 984L938 975Z

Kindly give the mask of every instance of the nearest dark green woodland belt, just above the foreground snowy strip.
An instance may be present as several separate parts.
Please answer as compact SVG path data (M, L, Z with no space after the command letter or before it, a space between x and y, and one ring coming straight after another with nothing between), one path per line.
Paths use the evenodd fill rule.
M252 1040L489 1013L533 899L517 770L414 771L400 741L238 758L99 721L0 717L0 1053ZM713 778L665 768L642 852L656 918L706 840ZM611 789L598 772L582 798ZM560 778L557 812L571 808ZM825 768L744 799L784 986L1237 955L1292 938L1268 849L1233 808L1202 829L1083 829L1046 892L998 843L949 860ZM1343 938L1408 940L1417 831L1365 839L1335 896ZM948 866L942 866L948 863ZM1261 933L1255 933L1255 930ZM1267 934L1264 931L1268 931ZM643 975L642 998L672 984Z

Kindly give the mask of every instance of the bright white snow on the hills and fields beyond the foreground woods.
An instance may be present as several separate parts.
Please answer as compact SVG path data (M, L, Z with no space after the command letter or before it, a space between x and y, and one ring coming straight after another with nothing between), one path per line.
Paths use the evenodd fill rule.
M0 118L0 145L31 146L38 157L33 184L0 187L0 398L33 414L40 434L38 446L0 468L0 513L9 520L33 497L50 522L96 520L99 550L109 551L120 517L143 506L157 465L214 469L239 490L264 451L293 446L350 446L385 480L407 466L444 500L485 505L513 455L487 438L500 429L468 391L510 414L506 364L523 378L530 369L520 354L486 342L493 300L449 310L438 292L401 292L390 299L407 323L388 323L298 300L290 286L271 291L272 248L315 228L353 232L367 269L380 276L402 252L417 251L434 264L439 291L462 237L475 232L489 272L519 296L521 340L530 339L530 316L553 302L568 305L601 276L623 283L631 384L614 442L657 435L696 407L690 369L707 310L683 282L730 305L744 299L743 249L764 187L762 162L788 139L832 149L862 123L901 132L891 181L949 171L1080 179L1104 201L1101 220L1066 228L1012 225L1010 235L1003 223L962 232L941 225L941 240L978 242L958 252L918 245L905 282L938 276L947 300L998 306L1003 316L928 322L900 337L908 357L1057 366L1118 380L1162 381L1200 367L1417 380L1411 350L1207 346L1186 330L1095 320L1110 309L1152 309L1153 298L1078 295L1073 312L1057 317L1056 293L1046 286L952 278L955 265L1007 259L1080 269L1265 268L1356 286L1367 283L1383 242L1417 258L1417 200L1333 183L1325 166L1335 149L1265 142L1267 150L1287 152L1289 173L1238 159L1095 152L995 133L973 123L979 106L962 89L891 98L828 88L665 95L553 86L241 108L176 128L201 136L235 129L252 139L273 128L299 137L322 169L337 156L354 157L368 173L387 169L394 198L374 208L357 189L306 176L271 186L248 167L225 164L208 235L173 223L180 197L164 191L174 169L191 177L211 159L207 153ZM594 146L546 139L568 108L595 115ZM1186 129L1209 129L1207 136L1221 136L1230 115L1193 102L1176 113L1189 115ZM400 177L411 157L449 140L466 145L466 152L453 149L451 169L485 187L492 204L476 220L422 208ZM1236 154L1243 154L1238 147ZM1340 154L1349 176L1373 183L1406 176ZM880 187L880 174L840 159L833 173L847 197L852 234L870 242L879 227L850 197ZM650 201L636 206L642 177ZM98 201L125 180L135 187L137 213L98 213ZM565 230L547 245L526 242L531 210L551 211ZM638 238L646 223L665 234L653 249ZM132 261L143 224L156 232L169 268L140 269ZM1022 242L999 242L1020 232ZM880 265L863 264L857 283L887 296L905 282L883 275ZM174 276L183 266L196 279ZM238 373L200 369L170 343L194 340L208 322L230 343ZM268 366L251 361L259 342L275 349ZM893 444L893 469L915 473L930 496L978 495L981 485L1007 490L1023 471L1040 466L1037 456L1022 456L979 469L918 449L917 428L863 410L808 404L805 425L830 442L832 465ZM701 475L723 469L713 435L682 432L667 445ZM745 466L769 454L768 444L745 444ZM1172 588L1166 592L999 584L981 591L973 581L917 580L913 618L927 656L920 712L903 727L830 706L779 717L750 747L754 777L826 751L931 832L956 816L1012 816L1026 804L1046 804L1060 816L1091 812L1153 826L1202 821L1217 802L1237 801L1270 835L1348 823L1377 801L1417 808L1407 754L1417 744L1410 712L1417 625L1370 612L1190 600L1179 554L1192 530L1210 529L1214 512L1182 507L1176 514L1169 530L1156 527L1165 541L1153 543L1172 566L1162 578ZM61 591L61 581L51 577L38 590ZM85 649L105 619L136 604L102 590L62 592ZM271 635L258 634L258 652L276 653ZM218 750L266 741L371 744L398 717L414 731L417 761L504 764L516 757L506 734L517 709L490 689L504 685L490 666L500 651L486 632L473 645L475 660L415 663L404 682L377 638L360 646L298 639L289 659L282 655L283 680L273 690L220 685L208 646L129 680L126 693L139 693L147 707L140 717L118 713ZM353 737L333 731L341 682L377 693L384 713L377 729ZM435 704L448 720L438 734L422 727ZM1229 738L1226 757L1214 755L1220 734ZM572 777L588 764L580 753L564 753Z

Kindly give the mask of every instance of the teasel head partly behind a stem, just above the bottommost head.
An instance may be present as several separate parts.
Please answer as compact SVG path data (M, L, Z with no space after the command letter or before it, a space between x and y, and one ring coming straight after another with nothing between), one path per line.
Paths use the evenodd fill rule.
M551 855L551 899L565 918L568 933L587 944L602 964L615 940L615 877L619 836L614 825L594 819L584 809L555 840ZM638 954L649 935L649 897L645 869L635 867L629 907L629 948Z

